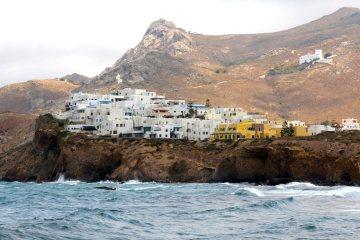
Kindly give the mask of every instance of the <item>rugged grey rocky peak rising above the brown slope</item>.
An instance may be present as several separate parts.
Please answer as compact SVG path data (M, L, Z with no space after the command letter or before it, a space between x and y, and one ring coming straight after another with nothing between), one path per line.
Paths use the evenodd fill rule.
M193 50L191 34L174 23L159 19L150 24L142 41L128 50L112 67L105 69L93 83L111 84L119 75L124 84L146 82L162 71L184 68L177 56Z

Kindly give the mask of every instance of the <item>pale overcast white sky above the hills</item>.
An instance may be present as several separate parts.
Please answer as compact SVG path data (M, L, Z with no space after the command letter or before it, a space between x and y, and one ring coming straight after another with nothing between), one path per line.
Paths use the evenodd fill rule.
M203 34L274 32L360 0L0 0L0 87L111 66L164 18Z

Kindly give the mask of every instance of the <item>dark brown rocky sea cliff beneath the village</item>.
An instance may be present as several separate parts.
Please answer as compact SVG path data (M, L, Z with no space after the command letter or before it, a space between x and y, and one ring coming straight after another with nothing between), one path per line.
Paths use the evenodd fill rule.
M52 181L64 173L84 181L360 184L359 132L345 140L205 143L96 139L60 126L50 115L37 119L34 140L0 156L0 179Z

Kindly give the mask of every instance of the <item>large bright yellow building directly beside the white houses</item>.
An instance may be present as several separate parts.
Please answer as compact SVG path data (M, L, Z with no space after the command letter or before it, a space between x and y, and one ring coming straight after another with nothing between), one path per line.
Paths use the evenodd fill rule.
M255 138L254 122L243 121L238 123L220 124L212 135L211 140L237 140Z

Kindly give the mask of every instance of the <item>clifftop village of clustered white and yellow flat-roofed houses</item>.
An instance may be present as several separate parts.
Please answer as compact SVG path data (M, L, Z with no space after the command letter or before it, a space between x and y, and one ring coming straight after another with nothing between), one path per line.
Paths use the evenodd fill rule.
M211 107L166 99L144 89L125 88L107 95L74 93L65 111L66 130L119 138L237 140L309 136L324 131L360 130L357 119L306 125L300 120L270 121L265 114L242 108Z

